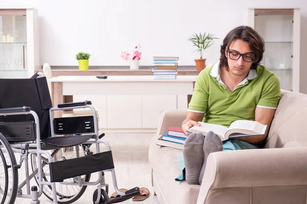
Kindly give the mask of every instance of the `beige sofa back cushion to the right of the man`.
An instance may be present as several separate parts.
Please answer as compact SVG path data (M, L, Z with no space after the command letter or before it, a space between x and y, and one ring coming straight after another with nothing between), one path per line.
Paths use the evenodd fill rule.
M265 148L307 146L307 95L281 92Z

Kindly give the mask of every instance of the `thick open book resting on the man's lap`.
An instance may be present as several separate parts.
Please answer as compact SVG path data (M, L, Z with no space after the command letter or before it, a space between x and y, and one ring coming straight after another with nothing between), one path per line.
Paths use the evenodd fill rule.
M222 141L228 138L264 135L268 126L252 120L236 120L232 122L228 128L218 124L199 123L201 126L194 125L187 132L201 132L203 135L206 135L209 131L212 131L220 136Z

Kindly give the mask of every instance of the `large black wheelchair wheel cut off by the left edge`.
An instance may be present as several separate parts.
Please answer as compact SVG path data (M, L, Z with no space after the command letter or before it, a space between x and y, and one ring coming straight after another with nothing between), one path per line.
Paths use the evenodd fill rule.
M0 133L0 200L1 204L13 204L17 196L18 170L14 152Z

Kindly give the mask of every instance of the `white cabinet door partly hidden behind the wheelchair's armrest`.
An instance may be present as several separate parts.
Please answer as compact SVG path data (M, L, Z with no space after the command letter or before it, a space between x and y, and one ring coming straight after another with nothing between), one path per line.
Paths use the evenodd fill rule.
M106 128L106 96L105 95L74 95L73 101L91 100L93 107L98 112L98 127L99 129ZM75 111L91 111L91 109L75 109Z

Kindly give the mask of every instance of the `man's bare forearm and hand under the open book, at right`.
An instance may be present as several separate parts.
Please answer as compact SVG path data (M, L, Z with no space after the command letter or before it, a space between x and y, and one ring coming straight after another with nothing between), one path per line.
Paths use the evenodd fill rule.
M276 109L256 107L255 121L261 124L268 125L266 134L263 136L250 136L250 137L238 137L237 140L242 140L251 144L259 144L264 141L269 133L270 126L274 117Z

